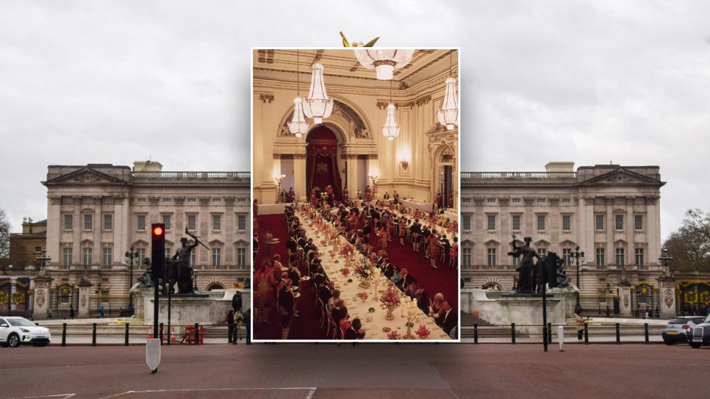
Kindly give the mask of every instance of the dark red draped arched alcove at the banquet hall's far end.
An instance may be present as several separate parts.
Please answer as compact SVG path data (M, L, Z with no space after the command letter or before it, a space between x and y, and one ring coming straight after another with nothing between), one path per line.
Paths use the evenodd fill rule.
M327 126L318 126L306 136L306 192L316 195L326 187L333 188L334 197L341 197L342 182L338 168L338 138Z

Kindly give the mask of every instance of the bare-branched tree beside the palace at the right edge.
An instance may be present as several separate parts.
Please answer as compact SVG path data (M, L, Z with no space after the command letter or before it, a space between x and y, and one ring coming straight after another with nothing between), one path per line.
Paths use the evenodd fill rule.
M710 213L689 209L683 224L664 245L673 257L672 270L710 270Z

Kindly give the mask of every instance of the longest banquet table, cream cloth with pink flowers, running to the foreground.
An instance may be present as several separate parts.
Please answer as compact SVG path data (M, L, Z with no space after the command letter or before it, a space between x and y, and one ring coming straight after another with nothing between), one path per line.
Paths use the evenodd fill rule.
M425 339L439 341L451 339L441 327L437 326L434 319L425 315L417 308L410 297L401 293L397 288L395 288L395 292L400 295L400 307L393 311L395 316L393 320L386 319L387 310L383 309L379 298L388 287L389 280L378 268L374 268L374 278L376 278L377 284L372 282L369 288L361 288L359 285L361 280L355 273L354 264L349 268L349 275L343 275L342 269L345 267L346 261L340 256L339 251L334 251L332 240L327 238L326 231L320 229L320 225L315 220L310 219L305 212L299 211L299 213L299 219L302 221L306 236L312 238L317 244L323 269L327 273L329 280L334 282L335 288L340 290L340 297L345 301L350 319L353 320L357 317L361 320L365 330L365 339L388 339L389 332L383 330L385 327L396 330L400 336L405 336L408 317L411 317L411 322L414 324L414 327L411 328L411 334L414 339L420 339L416 334L420 324L424 324L430 331L429 337ZM320 215L317 218L320 218ZM352 246L342 236L338 236L337 239L339 240L340 248L342 246ZM364 256L357 251L355 253L356 262L362 263ZM351 282L348 281L349 279ZM377 293L375 293L376 287ZM367 293L366 300L361 300L357 297L358 293L361 292ZM373 312L369 311L371 308L374 309Z

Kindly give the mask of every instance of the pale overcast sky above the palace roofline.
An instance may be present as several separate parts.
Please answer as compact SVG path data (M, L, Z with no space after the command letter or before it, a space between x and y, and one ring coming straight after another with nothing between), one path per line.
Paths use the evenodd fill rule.
M248 170L251 46L461 47L464 171L660 165L663 236L710 210L710 1L0 3L0 208L47 165ZM532 151L523 151L531 146Z

